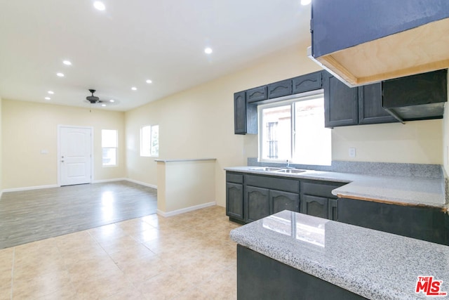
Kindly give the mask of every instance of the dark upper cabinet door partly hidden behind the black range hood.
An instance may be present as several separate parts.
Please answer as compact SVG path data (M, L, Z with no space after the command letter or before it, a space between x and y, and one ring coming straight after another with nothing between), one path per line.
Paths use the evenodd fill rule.
M358 124L398 122L382 107L382 84L358 86Z

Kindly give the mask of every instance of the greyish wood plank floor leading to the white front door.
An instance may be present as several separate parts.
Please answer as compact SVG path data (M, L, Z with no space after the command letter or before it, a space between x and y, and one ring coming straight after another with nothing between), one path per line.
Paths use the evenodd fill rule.
M0 249L155 214L157 191L128 181L4 193Z

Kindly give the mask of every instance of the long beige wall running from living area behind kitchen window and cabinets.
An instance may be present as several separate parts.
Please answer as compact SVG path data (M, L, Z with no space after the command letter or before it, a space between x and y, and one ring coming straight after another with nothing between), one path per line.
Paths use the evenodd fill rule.
M139 156L139 133L143 125L159 124L160 158L217 158L215 201L225 206L223 168L257 157L257 136L234 135L234 92L319 70L306 48L286 48L253 67L126 112L128 177L157 185L154 158ZM349 160L347 148L355 147L358 161L441 164L442 126L433 120L333 129L333 159Z

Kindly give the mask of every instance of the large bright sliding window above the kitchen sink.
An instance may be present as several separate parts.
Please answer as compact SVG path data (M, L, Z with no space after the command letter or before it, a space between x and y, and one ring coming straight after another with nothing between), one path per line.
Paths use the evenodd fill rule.
M322 90L258 105L259 161L330 166L331 130ZM294 173L284 171L285 173Z

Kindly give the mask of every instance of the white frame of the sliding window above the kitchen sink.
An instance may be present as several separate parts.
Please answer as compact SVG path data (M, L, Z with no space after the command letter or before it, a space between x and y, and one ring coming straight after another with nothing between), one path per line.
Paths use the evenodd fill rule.
M259 105L257 105L257 126L258 126L258 136L257 136L257 145L258 145L258 157L257 157L257 161L258 162L272 162L272 163L286 163L286 159L288 159L288 162L292 163L292 164L304 164L302 162L295 162L295 160L293 159L293 157L295 157L295 145L296 145L296 132L295 132L295 128L296 128L296 117L295 117L295 103L298 103L302 100L311 100L314 98L323 98L324 100L324 90L323 89L319 89L316 91L308 91L305 93L297 93L295 95L289 95L289 96L285 96L285 97L279 97L279 98L275 98L272 100L267 100L267 101L263 101L262 103L260 103ZM288 158L282 158L282 159L269 159L269 158L264 158L262 156L262 152L263 152L263 147L264 147L264 138L262 137L264 135L264 133L266 133L266 131L263 130L263 126L264 126L264 120L262 117L262 110L264 110L265 108L272 108L272 107L280 107L280 106L287 106L290 105L290 117L291 117L291 122L290 122L290 155ZM323 103L324 105L324 103ZM324 126L324 124L323 124ZM330 145L332 147L332 136L330 137ZM332 149L329 150L330 151L330 162L328 162L328 164L320 164L323 166L330 166L331 161L332 161Z

